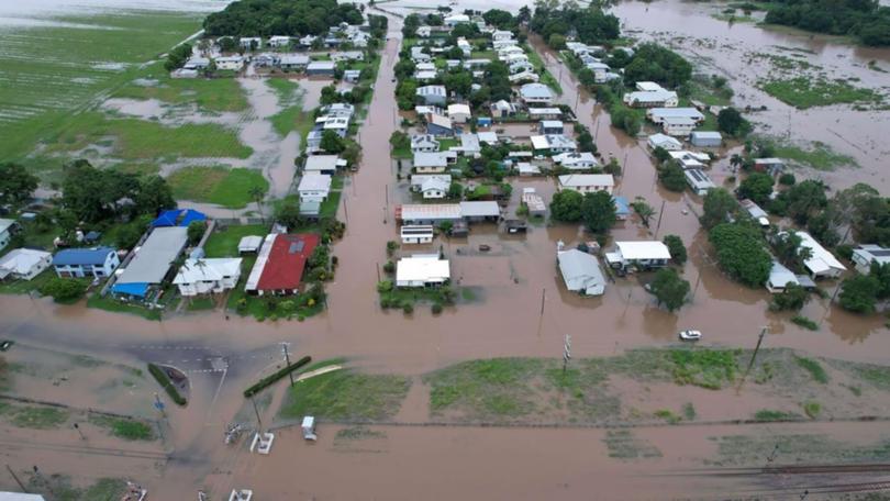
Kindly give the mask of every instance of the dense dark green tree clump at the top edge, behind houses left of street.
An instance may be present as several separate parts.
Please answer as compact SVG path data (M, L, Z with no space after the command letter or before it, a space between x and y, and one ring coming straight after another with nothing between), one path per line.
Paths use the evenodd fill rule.
M336 0L240 0L204 19L207 36L321 35L342 22L361 24L354 3Z

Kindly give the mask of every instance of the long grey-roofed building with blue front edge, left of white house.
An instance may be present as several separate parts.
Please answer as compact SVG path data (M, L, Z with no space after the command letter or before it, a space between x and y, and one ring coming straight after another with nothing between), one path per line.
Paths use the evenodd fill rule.
M135 256L126 268L118 271L120 275L111 291L115 294L145 298L149 288L164 281L187 243L186 226L155 227L142 246L133 249Z

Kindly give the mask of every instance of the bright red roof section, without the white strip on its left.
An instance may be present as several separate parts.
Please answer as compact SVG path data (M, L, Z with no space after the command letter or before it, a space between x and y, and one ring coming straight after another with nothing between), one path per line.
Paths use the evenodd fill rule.
M275 237L269 258L257 283L258 290L297 289L303 268L312 250L319 245L319 235L301 233L279 234Z

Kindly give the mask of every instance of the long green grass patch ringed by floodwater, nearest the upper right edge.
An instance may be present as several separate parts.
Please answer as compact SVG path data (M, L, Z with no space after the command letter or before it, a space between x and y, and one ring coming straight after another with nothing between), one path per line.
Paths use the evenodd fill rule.
M880 104L883 97L871 89L855 87L847 80L801 76L758 82L768 94L799 110L831 104Z

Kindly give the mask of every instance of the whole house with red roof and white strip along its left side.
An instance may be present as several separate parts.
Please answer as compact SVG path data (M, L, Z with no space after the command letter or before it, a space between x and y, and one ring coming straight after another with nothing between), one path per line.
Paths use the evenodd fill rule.
M297 293L305 261L318 245L319 235L311 233L267 235L244 290L255 296Z

